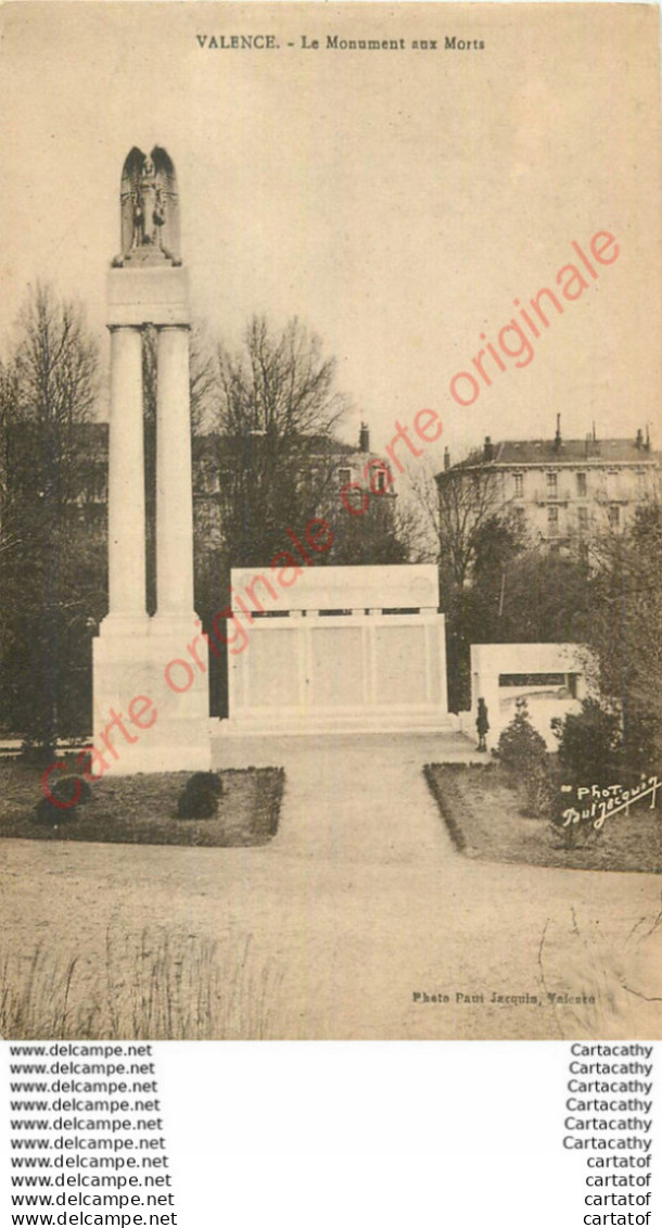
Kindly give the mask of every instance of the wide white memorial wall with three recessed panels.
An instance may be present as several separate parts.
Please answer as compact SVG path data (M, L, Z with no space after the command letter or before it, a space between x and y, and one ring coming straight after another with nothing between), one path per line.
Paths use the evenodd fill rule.
M436 567L305 569L276 600L257 575L232 571L249 631L228 652L224 733L450 728Z

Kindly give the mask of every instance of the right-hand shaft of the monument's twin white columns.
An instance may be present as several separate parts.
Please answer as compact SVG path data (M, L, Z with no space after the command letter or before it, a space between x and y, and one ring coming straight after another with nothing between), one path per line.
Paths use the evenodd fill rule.
M189 329L162 325L157 341L156 618L193 628L193 473Z

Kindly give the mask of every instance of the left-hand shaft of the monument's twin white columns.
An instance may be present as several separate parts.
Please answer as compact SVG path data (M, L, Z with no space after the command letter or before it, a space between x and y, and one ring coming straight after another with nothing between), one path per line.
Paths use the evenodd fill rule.
M108 618L117 631L145 608L145 457L140 328L111 327ZM111 630L109 626L106 629Z

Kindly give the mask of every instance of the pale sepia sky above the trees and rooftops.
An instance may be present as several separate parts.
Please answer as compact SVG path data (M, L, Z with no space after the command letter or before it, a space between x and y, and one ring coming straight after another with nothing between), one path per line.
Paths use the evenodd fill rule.
M656 20L599 4L5 5L2 352L36 279L80 298L106 336L122 166L158 144L194 316L230 345L253 312L298 316L337 356L346 438L365 419L380 451L432 408L434 464L484 435L549 437L558 413L565 437L647 422L661 446ZM278 47L199 45L221 33ZM327 48L335 34L405 49ZM532 339L528 365L493 363L458 404L451 381L475 375L480 334L495 343L513 300L554 284L598 231L618 259Z

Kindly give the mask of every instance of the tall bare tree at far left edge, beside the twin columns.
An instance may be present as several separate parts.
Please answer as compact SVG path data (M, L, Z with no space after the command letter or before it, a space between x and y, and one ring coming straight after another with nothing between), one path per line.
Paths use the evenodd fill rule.
M50 286L28 295L0 391L0 690L14 732L49 747L69 721L87 620L103 599L101 546L80 515L97 345L82 309Z

